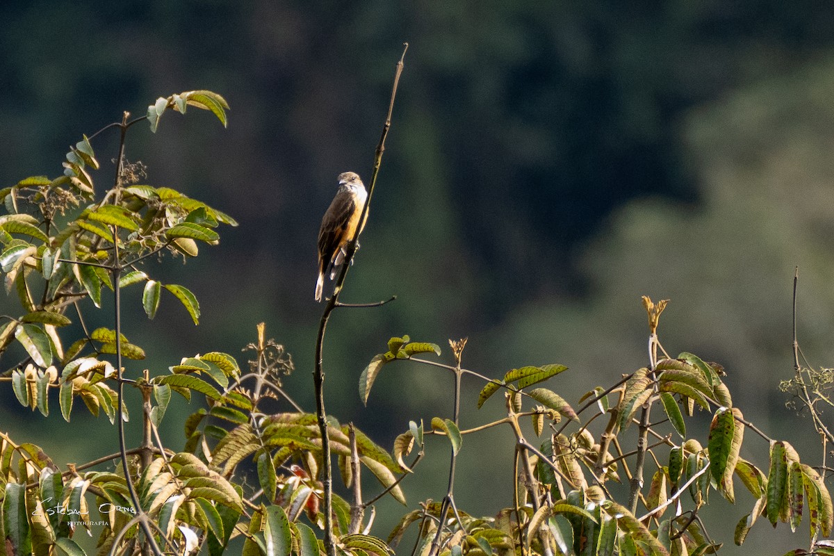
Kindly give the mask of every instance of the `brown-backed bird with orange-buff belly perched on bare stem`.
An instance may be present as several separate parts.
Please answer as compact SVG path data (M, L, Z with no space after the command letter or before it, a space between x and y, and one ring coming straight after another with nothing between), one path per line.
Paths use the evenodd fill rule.
M368 199L364 183L354 172L339 174L339 189L330 203L319 228L319 279L315 283L315 300L321 301L324 288L324 274L330 271L330 279L336 275L336 268L344 262L344 246L348 244L359 227L364 203ZM368 215L359 227L362 233ZM358 236L358 234L357 234Z

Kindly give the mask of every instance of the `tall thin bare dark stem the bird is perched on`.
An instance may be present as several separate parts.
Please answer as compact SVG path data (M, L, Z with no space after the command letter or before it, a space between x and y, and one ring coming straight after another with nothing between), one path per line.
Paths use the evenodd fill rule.
M399 76L403 72L405 52L408 50L408 43L404 44L402 56L399 57L399 62L396 65L396 72L394 73L394 86L391 90L391 101L389 103L388 115L385 118L385 124L382 128L382 135L379 138L374 156L374 173L371 174L370 185L368 188L368 198L365 200L362 208L362 215L359 218L359 226L354 231L354 237L350 239L347 246L345 246L345 256L342 268L339 271L339 277L336 278L334 285L333 296L329 298L324 305L324 312L319 321L319 333L316 338L315 358L313 369L313 383L315 389L316 415L319 422L319 432L321 433L321 452L322 452L322 485L324 488L324 550L328 556L335 556L335 544L333 539L333 467L330 462L330 442L327 430L327 414L324 411L324 332L327 329L327 323L330 319L330 313L333 313L336 304L339 303L339 293L344 286L344 279L347 277L350 262L353 260L356 252L356 241L359 238L359 233L362 231L362 224L368 218L368 208L370 206L371 198L374 195L374 186L376 185L376 177L379 173L379 166L382 163L382 154L385 150L385 138L388 137L388 132L391 127L391 114L394 111L394 97L397 93L397 85L399 84Z

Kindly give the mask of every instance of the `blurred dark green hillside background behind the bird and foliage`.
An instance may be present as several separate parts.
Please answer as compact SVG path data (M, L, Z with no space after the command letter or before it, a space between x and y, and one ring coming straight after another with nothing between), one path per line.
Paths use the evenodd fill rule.
M660 328L671 354L722 363L746 417L819 463L810 422L784 408L789 396L776 387L792 376L797 265L800 343L811 363L834 361L834 3L34 0L3 3L0 21L3 185L58 175L82 133L123 110L142 115L158 96L208 88L231 105L226 130L193 111L166 113L156 135L138 126L128 137L127 156L148 166L148 183L240 222L184 267L149 265L192 288L200 326L173 298L149 322L138 291L125 292L124 332L149 355L128 373L164 373L213 350L244 362L239 350L264 321L293 354L287 389L313 410L316 233L336 175L369 178L408 41L343 298L398 299L334 316L329 412L386 447L409 419L450 415L450 377L413 364L385 368L368 408L359 402L362 368L404 333L439 343L447 361L446 339L468 336L465 365L493 377L568 365L550 388L575 403L645 363L646 294L671 299ZM103 163L115 141L93 143ZM103 165L99 188L112 170ZM0 313L11 301L0 298ZM93 318L100 325L106 308ZM465 384L464 428L500 416L497 399L475 410L479 388ZM174 448L197 403L179 405L163 423ZM136 423L128 428L136 438ZM45 420L8 388L0 429L59 463L115 446L103 418ZM510 439L465 438L460 508L510 505ZM445 493L447 447L429 449L406 483L409 503ZM766 450L750 435L741 455L766 466ZM736 508L718 502L730 520L719 516L712 532L728 543L727 523L751 505L740 498ZM375 532L385 536L403 512L380 504ZM761 526L726 553L806 543L786 531Z

